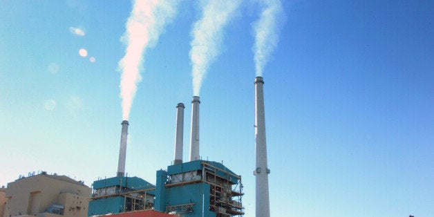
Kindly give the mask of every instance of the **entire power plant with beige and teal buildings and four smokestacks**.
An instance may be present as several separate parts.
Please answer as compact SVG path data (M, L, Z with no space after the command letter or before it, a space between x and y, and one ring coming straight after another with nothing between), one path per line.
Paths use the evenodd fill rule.
M256 216L270 216L263 79L255 79ZM125 176L127 120L122 121L120 151L115 177L98 179L93 189L66 176L48 175L19 178L0 189L0 214L12 216L243 216L241 176L223 162L200 156L200 98L191 101L189 161L183 162L184 109L176 106L173 164L156 171L156 184ZM1 202L6 198L6 203ZM3 209L1 205L4 204Z

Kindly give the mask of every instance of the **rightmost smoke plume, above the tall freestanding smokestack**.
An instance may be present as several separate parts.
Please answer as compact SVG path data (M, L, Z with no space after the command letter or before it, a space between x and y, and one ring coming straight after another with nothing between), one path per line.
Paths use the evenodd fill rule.
M262 76L263 68L279 42L277 19L283 15L280 0L261 0L263 10L261 17L254 23L254 61L256 76ZM283 17L283 16L282 16Z

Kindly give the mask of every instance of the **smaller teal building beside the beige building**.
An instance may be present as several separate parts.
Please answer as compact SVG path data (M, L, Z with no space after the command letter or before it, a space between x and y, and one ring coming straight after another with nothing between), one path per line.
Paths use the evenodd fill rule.
M155 186L138 178L116 176L93 182L88 216L152 209Z

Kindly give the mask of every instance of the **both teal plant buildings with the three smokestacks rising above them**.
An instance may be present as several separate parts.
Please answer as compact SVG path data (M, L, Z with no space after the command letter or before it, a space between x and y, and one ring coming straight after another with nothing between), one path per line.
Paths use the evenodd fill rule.
M88 215L122 214L155 209L179 216L242 216L241 176L219 162L200 160L200 98L191 101L189 162L182 162L184 109L176 106L173 165L157 171L156 185L137 177L125 177L129 122L122 122L117 176L93 182Z

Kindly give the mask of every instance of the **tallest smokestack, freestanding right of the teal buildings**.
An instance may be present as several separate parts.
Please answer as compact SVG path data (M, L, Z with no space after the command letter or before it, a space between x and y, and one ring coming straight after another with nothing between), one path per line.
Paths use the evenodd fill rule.
M255 153L256 153L256 216L270 216L270 198L268 196L267 144L265 142L265 109L262 77L255 79Z

